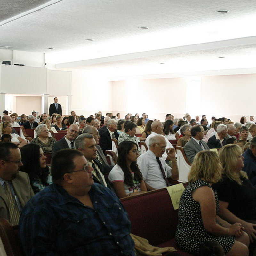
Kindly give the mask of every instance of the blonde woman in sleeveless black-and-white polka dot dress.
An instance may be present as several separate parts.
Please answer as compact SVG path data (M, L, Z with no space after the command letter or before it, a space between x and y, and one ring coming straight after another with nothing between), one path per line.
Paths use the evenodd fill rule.
M188 175L189 184L180 198L176 243L181 250L198 254L202 243L215 241L227 256L248 256L249 237L242 225L231 225L217 216L218 197L211 184L221 179L221 169L215 152L205 150L196 154Z

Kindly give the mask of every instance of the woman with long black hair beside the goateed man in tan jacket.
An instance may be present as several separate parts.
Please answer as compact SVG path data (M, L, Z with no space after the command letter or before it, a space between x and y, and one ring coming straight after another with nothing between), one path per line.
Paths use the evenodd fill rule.
M31 187L36 194L49 185L51 176L46 166L46 156L39 145L30 143L20 149L22 166L20 171L27 172Z

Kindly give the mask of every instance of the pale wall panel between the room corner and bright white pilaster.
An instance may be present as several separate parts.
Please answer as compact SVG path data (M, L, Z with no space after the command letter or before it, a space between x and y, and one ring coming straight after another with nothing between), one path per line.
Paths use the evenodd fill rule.
M185 114L186 81L183 78L126 80L113 82L113 114L147 113L149 119L165 120L171 113Z

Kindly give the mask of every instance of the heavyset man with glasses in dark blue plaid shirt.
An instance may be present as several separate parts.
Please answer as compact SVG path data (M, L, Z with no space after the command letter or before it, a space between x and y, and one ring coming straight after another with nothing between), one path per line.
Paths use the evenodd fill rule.
M75 149L52 158L53 184L20 216L20 240L28 256L134 256L131 223L117 196L94 184L92 167Z

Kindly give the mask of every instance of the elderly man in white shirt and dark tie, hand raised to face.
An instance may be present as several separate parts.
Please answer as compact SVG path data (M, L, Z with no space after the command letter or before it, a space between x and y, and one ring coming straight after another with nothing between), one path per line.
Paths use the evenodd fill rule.
M165 136L163 135L152 136L148 145L148 151L137 159L147 189L154 190L170 186L171 181L179 179L175 149L166 149ZM172 160L172 168L163 160L164 152Z

